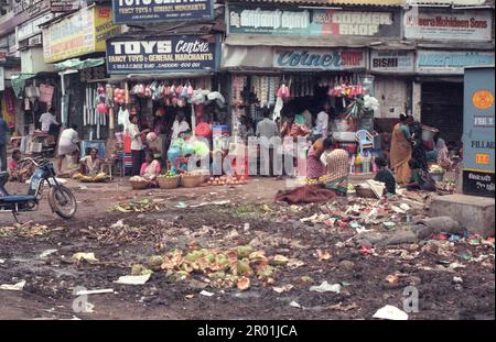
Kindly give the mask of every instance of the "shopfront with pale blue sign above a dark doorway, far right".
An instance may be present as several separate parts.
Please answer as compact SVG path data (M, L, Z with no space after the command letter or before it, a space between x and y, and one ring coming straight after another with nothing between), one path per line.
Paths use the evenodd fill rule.
M446 143L460 146L464 67L494 63L493 52L418 51L416 71L421 87L421 122L439 129Z

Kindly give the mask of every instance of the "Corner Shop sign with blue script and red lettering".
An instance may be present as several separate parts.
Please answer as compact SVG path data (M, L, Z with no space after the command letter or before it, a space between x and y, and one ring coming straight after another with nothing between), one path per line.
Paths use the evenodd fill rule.
M316 70L365 69L365 52L359 49L283 49L276 51L273 67Z

